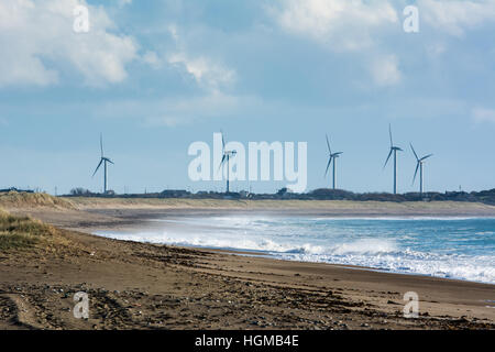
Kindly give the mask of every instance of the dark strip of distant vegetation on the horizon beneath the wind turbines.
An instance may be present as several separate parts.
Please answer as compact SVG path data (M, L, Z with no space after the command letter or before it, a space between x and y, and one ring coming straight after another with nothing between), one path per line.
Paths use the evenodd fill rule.
M68 197L103 197L103 198L188 198L188 199L301 199L301 200L359 200L359 201L471 201L495 205L495 188L482 191L446 191L446 193L407 193L393 195L388 193L356 194L342 189L319 188L307 194L294 194L287 188L276 194L249 194L198 191L196 194L183 189L166 189L161 193L118 195L111 190L107 194L95 194L84 188L75 188Z

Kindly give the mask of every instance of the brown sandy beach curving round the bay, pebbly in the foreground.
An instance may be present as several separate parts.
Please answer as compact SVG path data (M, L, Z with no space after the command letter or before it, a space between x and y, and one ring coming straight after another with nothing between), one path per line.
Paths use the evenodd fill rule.
M140 228L154 217L220 210L274 216L495 216L495 207L486 205L48 197L34 201L18 196L1 197L0 207L46 227L35 244L0 254L0 329L495 328L495 286L490 284L89 234ZM89 319L73 316L77 292L89 296ZM407 292L419 296L417 319L404 318Z

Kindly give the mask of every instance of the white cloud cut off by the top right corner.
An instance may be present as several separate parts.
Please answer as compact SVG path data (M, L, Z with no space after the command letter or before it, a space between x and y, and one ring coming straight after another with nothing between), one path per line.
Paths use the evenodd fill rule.
M485 22L495 22L495 0L419 0L417 4L421 21L455 36Z

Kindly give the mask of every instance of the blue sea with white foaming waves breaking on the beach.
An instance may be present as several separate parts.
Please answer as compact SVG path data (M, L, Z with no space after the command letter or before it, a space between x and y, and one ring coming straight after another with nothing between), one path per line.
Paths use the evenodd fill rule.
M495 218L177 217L112 239L495 284Z

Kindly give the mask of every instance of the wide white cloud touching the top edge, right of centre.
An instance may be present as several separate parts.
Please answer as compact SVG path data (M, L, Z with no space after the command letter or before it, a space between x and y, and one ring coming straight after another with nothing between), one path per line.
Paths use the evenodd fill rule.
M334 51L373 45L373 31L396 23L398 15L381 0L286 0L268 13L289 33L307 35Z

